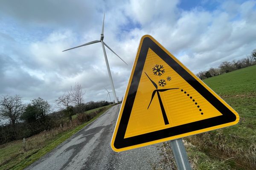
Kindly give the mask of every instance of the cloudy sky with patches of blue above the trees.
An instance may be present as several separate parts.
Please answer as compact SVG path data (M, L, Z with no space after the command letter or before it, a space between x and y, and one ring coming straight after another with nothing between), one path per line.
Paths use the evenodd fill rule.
M78 82L84 102L111 91L99 40L105 43L116 94L125 93L140 38L152 35L193 73L244 58L256 48L256 1L1 0L0 96L54 100ZM112 96L113 99L113 96Z

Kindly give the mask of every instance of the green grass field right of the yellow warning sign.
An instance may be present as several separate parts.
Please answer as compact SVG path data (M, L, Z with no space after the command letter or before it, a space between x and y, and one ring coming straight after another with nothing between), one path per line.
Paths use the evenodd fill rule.
M256 65L205 79L240 116L237 125L186 137L198 170L256 169Z

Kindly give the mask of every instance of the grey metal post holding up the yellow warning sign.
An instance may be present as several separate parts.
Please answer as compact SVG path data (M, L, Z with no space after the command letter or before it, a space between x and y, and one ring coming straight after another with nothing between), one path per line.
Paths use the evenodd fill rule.
M178 170L191 170L182 138L172 140L171 146Z

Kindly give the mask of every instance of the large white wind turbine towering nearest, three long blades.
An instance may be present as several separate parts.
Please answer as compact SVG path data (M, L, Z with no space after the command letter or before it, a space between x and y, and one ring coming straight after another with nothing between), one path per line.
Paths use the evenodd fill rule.
M111 76L111 71L110 71L109 64L108 64L108 58L107 58L105 46L108 49L110 49L110 51L112 51L114 54L116 54L116 53L103 41L103 39L104 39L104 20L105 20L105 13L104 13L104 17L103 17L102 32L101 32L100 40L94 40L94 41L91 41L91 42L87 42L87 43L85 43L83 45L79 45L79 46L76 46L76 47L73 47L73 48L69 48L69 49L64 50L64 51L68 51L68 50L71 50L71 49L74 49L74 48L79 48L79 47L82 47L82 46L85 46L85 45L90 45L90 44L94 44L94 43L97 43L97 42L101 42L102 43L102 49L103 49L104 57L105 57L105 62L106 62L107 69L108 69L108 76L109 76L109 80L111 82L111 88L112 88L112 91L113 91L113 96L115 98L115 102L117 103L116 91L115 91L113 79L112 79L112 76ZM117 54L116 54L116 56L119 57L119 55L117 55ZM121 57L119 57L119 59L121 59L126 65L128 65Z

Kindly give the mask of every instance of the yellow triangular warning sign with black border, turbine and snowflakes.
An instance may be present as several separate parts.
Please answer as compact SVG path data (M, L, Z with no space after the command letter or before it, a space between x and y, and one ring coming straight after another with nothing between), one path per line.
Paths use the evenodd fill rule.
M114 151L235 125L239 115L153 37L140 41L111 141Z

